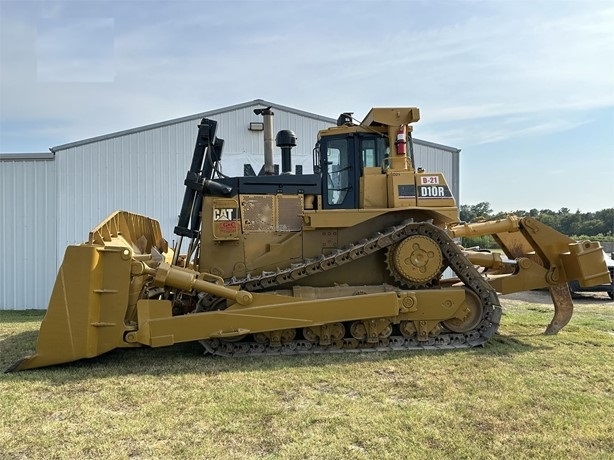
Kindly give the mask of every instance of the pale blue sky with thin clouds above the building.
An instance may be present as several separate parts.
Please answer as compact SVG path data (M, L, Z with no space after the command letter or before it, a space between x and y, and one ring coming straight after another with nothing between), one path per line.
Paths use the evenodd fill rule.
M0 0L0 152L253 99L418 106L461 203L614 206L611 1Z

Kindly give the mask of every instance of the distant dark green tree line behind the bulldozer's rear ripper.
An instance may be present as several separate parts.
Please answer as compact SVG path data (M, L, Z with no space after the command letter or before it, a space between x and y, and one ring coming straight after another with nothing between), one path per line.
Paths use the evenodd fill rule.
M461 221L464 222L501 219L508 214L515 214L518 217L529 216L576 240L614 241L614 208L595 212L581 212L580 210L572 212L569 208L561 208L558 211L533 208L528 211L518 209L510 212L495 212L490 207L490 203L483 201L477 204L462 204L459 213ZM465 246L492 247L490 237L467 240L463 241Z

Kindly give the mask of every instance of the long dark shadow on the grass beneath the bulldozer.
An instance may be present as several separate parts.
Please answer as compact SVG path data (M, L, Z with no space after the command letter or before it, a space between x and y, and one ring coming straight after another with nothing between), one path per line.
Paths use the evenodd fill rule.
M15 343L22 344L31 333L19 334ZM34 334L35 336L35 334ZM32 342L33 343L33 342ZM7 350L10 344L1 342ZM20 345L18 348L22 348ZM203 348L198 342L176 344L164 348L127 348L116 349L104 355L82 359L73 363L60 364L42 369L32 369L11 374L0 374L0 379L10 378L23 381L40 380L51 384L64 384L90 378L115 378L122 376L168 376L203 374L216 375L226 372L277 371L303 367L325 367L356 363L392 363L400 359L424 359L425 357L449 358L450 355L483 356L501 358L519 353L532 352L541 348L516 337L496 334L485 346L466 349L440 349L423 351L359 352L306 355L251 355L249 358L225 358L203 356ZM13 353L14 354L14 353ZM14 361L21 358L14 356ZM4 361L4 359L2 360ZM7 363L12 364L13 361ZM6 368L7 366L4 366ZM2 370L4 370L4 368Z

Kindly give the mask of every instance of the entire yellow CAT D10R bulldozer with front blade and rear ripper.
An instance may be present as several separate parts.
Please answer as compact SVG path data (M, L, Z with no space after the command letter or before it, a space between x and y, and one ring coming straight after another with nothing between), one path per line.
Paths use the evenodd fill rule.
M36 353L7 371L116 348L199 341L222 356L467 348L501 319L498 294L549 288L556 334L567 282L607 283L598 243L533 218L459 222L445 177L415 166L415 107L350 113L319 132L313 174L292 173L296 136L264 121L264 166L220 171L223 140L202 119L169 248L157 221L116 212L69 246ZM502 253L465 249L492 235Z

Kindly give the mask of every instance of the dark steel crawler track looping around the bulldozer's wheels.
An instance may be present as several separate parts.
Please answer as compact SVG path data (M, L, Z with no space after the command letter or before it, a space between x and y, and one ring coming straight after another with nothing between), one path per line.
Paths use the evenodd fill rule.
M208 353L219 356L252 356L252 355L293 355L309 353L353 353L360 351L394 351L394 350L429 350L448 348L469 348L484 344L497 331L501 318L501 307L494 289L484 280L475 267L465 258L458 245L446 232L428 222L407 221L401 225L391 227L370 238L356 242L350 247L338 250L327 256L317 259L305 260L303 263L293 264L276 272L265 272L259 276L249 276L243 279L230 279L229 286L240 286L248 291L263 291L276 289L291 284L308 276L331 270L351 263L361 257L366 257L376 251L384 250L393 244L412 235L423 235L431 238L441 249L444 263L450 267L466 288L471 290L481 301L482 316L479 324L472 330L464 333L455 333L445 328L438 335L419 341L416 337L405 337L394 328L393 335L382 338L378 343L369 343L347 338L333 341L332 345L322 346L317 342L301 339L272 346L262 341L255 341L248 335L242 341L226 341L223 339L209 339L201 341ZM425 286L432 288L431 286ZM445 289L445 288L444 288ZM399 289L402 292L402 289ZM214 305L214 298L204 298L201 301L202 310L207 305ZM350 328L346 327L346 331Z

